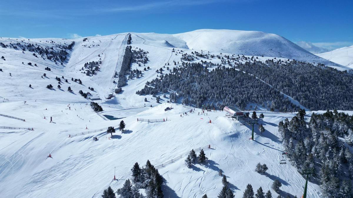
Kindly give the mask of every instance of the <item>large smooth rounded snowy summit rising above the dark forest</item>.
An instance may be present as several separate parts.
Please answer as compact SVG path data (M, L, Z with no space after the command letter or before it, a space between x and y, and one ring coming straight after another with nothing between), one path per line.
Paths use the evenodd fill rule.
M259 31L202 29L175 34L190 49L203 49L255 56L289 58L339 66L324 60L276 34Z

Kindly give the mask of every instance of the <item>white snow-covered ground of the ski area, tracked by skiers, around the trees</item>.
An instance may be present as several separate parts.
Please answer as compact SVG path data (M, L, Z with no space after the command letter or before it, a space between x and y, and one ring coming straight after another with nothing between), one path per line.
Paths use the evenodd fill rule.
M209 30L204 32L208 35ZM76 42L73 49L68 51L68 62L63 65L37 58L29 51L0 48L0 55L6 59L0 59L0 114L26 120L23 122L0 116L0 126L34 129L0 129L0 197L100 197L109 185L114 191L121 187L124 180L130 177L130 169L135 162L142 166L146 160L150 160L158 166L179 156L180 160L158 168L168 186L162 189L166 197L201 197L204 193L209 197L216 197L222 188L219 169L227 175L235 197L242 197L248 183L255 190L260 186L264 191L271 190L270 186L275 179L282 182L283 196L287 196L287 193L301 196L304 178L289 163L279 164L283 148L277 133L277 124L285 118L290 119L295 113L264 112L265 118L260 123L266 131L261 136L256 128L255 141L251 141L251 127L226 117L225 112L205 112L208 115L198 115L201 110L195 109L195 112L183 115L182 112L193 107L167 103L168 95L167 98L161 95L162 104L157 104L151 96L135 94L145 86L146 81L157 78L158 73L155 70L168 63L170 68L175 67L173 61L180 62L180 50L188 54L195 50L207 50L211 54L219 55L222 52L223 55L230 56L240 52L233 52L223 45L218 49L212 47L212 42L202 42L208 36L199 38L201 40L198 42L204 45L192 42L195 32L184 35L131 33L132 48L148 51L149 62L141 67L134 63L132 69L142 70L142 76L128 80L120 94L115 94L113 99L106 99L116 86L113 83L116 80L114 73L120 70L127 35L128 33L121 33L90 37L86 41L59 38L24 41L0 38L0 42L5 44L24 41L54 48L51 41L67 44ZM274 35L270 35L271 37L279 39ZM289 43L282 37L280 39ZM287 48L292 46L290 43L288 45ZM309 52L292 47L307 54L303 57L313 57ZM173 48L176 52L172 52ZM258 55L259 61L280 57L277 54L268 54L272 57L267 57L261 49L242 52L248 58L255 52L261 52ZM300 53L297 55L300 56ZM297 59L293 56L285 58ZM80 71L84 63L100 59L102 64L96 75L86 76ZM206 59L200 58L198 61L201 60ZM221 62L218 58L208 61ZM28 65L28 62L32 65ZM144 71L143 68L147 66L150 69ZM51 71L45 70L45 67L50 67ZM167 73L167 69L163 69L163 73ZM41 77L43 73L46 73L44 78ZM68 82L61 80L61 89L57 88L56 76L68 79ZM72 81L71 78L82 80L82 84ZM53 89L47 89L48 84L52 84ZM67 91L68 86L73 92ZM93 87L94 91L88 87ZM78 93L79 90L89 91L92 97L101 98L96 102L102 105L104 111L98 114L93 112L89 106L90 100L83 98ZM144 101L145 97L147 102ZM174 109L164 111L167 106ZM109 120L104 115L118 119ZM307 112L307 115L311 115L311 112ZM53 118L53 123L49 122L50 117ZM167 121L148 123L137 121L137 118L165 118ZM121 120L126 123L125 133L117 130L108 138L110 134L106 134L106 128L117 127ZM94 141L93 137L98 137L98 141ZM211 149L205 150L208 164L187 168L184 163L185 153L208 145L211 146ZM52 158L47 158L49 153ZM268 174L260 175L255 172L258 162L267 164ZM115 181L114 167L118 179ZM271 192L276 197L276 193L273 190ZM309 184L308 196L320 196L317 184Z

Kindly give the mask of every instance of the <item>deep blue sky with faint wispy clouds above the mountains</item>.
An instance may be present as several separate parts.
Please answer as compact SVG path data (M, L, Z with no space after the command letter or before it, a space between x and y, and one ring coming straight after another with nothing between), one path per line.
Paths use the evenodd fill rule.
M0 36L257 30L319 48L353 45L353 2L316 0L2 1Z

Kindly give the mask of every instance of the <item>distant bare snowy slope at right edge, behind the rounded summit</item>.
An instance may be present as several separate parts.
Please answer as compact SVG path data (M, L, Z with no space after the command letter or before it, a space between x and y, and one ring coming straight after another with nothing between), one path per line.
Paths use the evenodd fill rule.
M353 68L353 45L316 55L334 63Z

